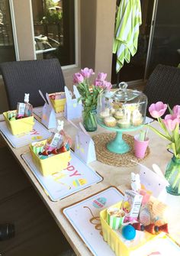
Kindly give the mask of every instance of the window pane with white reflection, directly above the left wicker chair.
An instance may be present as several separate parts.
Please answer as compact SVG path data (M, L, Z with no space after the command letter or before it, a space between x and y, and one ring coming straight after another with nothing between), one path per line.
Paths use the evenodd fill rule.
M57 57L62 66L74 64L74 0L32 0L32 8L37 59Z

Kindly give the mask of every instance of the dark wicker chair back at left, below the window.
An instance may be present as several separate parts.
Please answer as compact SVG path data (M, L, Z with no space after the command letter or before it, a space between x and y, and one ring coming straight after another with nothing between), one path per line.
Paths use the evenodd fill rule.
M16 109L24 102L24 93L30 93L34 107L43 105L43 95L48 92L64 92L65 81L59 60L24 60L1 64L2 77L8 97L9 109Z

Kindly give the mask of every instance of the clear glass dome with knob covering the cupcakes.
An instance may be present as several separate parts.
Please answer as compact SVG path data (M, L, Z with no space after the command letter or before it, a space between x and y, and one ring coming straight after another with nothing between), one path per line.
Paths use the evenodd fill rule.
M145 123L147 97L143 92L127 89L127 83L122 82L119 87L99 94L98 123L117 131L134 130Z

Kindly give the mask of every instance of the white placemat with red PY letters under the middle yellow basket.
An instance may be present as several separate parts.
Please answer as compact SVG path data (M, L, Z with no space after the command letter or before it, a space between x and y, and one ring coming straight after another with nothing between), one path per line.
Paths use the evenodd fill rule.
M71 157L67 169L61 170L48 177L43 177L34 165L31 153L27 152L22 154L25 163L34 173L34 176L52 201L63 199L66 196L70 196L72 193L83 190L102 180L102 177L98 175L95 170L92 170L84 164L72 151Z

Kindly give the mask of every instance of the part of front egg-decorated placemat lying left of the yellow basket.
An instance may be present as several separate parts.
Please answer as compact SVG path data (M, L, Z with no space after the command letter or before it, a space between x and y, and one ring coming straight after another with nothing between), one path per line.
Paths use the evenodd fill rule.
M80 235L85 245L88 246L92 254L96 256L114 256L114 252L103 240L100 231L96 229L100 220L92 220L93 217L99 217L99 212L114 203L120 202L123 195L115 187L110 187L94 196L63 209L64 215L72 224L73 228Z

